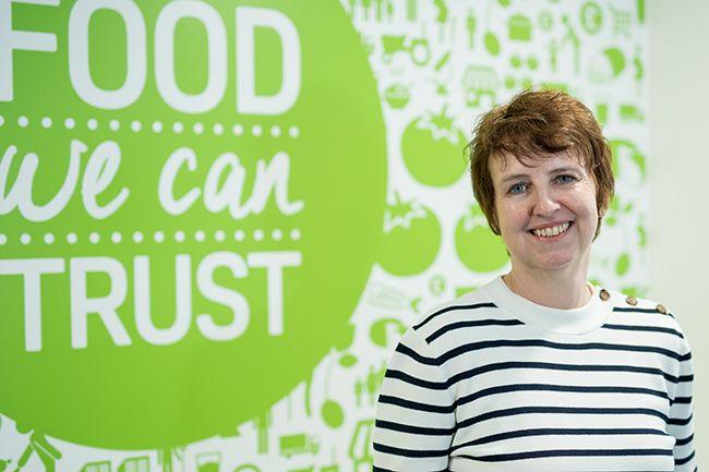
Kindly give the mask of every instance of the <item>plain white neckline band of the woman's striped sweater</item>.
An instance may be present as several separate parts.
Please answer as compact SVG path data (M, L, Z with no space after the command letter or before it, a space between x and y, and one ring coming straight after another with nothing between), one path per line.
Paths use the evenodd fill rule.
M537 304L509 290L497 276L480 290L485 292L500 308L531 327L558 335L584 335L605 323L613 311L611 300L602 300L601 288L593 286L590 300L578 308L560 310Z

